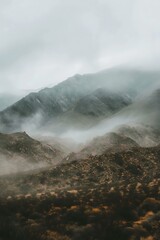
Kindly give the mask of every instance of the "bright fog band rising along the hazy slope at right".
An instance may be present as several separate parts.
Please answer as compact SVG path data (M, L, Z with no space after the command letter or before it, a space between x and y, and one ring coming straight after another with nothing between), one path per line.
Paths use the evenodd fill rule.
M62 133L62 137L72 138L77 142L86 143L97 136L103 136L110 132L117 132L121 126L138 127L138 131L143 127L151 127L159 134L160 114L159 114L159 93L155 92L159 88L159 83L150 86L138 95L135 101L109 118L105 118L88 130L70 129Z

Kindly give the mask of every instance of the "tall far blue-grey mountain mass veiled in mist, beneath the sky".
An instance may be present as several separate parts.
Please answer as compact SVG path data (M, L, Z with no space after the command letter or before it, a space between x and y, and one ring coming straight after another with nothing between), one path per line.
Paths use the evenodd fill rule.
M72 128L90 128L136 99L145 99L159 86L159 78L158 71L124 68L75 75L53 88L30 93L0 112L0 130L47 132L49 129L53 134L62 134ZM136 111L135 107L135 117Z

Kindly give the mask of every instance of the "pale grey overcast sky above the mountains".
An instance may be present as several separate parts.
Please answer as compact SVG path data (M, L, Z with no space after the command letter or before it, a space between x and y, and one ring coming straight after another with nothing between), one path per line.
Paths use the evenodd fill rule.
M120 64L159 68L159 0L0 0L0 92Z

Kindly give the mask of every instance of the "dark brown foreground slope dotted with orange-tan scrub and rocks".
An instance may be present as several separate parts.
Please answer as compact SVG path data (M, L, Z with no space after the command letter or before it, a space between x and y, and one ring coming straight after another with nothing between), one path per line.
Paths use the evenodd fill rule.
M159 156L135 147L1 177L1 238L158 240Z

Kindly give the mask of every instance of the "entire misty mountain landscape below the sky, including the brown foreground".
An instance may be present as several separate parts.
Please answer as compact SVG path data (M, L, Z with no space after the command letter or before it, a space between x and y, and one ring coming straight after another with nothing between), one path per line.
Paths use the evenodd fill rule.
M75 75L0 112L0 239L160 239L159 79Z

